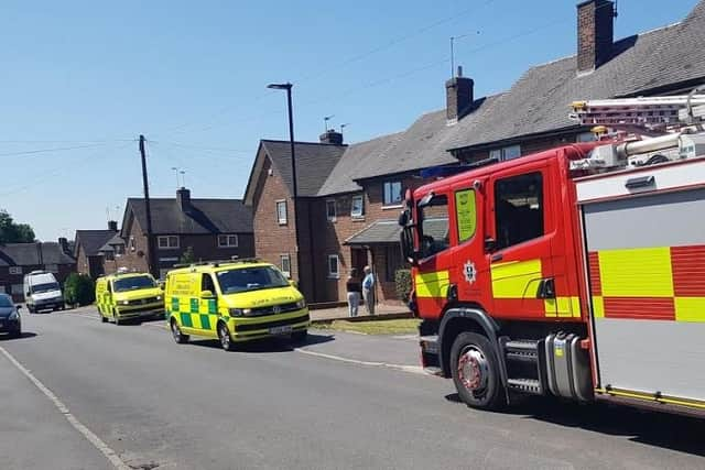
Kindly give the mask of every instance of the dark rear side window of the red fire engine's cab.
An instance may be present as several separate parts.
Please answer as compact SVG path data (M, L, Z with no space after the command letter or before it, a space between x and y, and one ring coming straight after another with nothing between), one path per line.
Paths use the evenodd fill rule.
M543 177L540 172L495 183L496 249L542 237Z

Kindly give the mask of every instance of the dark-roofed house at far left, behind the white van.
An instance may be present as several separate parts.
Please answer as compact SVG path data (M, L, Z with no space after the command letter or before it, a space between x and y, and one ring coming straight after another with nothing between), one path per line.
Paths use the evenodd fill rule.
M54 273L61 284L76 271L76 260L66 239L0 244L0 293L12 295L14 302L23 302L24 275L40 270Z

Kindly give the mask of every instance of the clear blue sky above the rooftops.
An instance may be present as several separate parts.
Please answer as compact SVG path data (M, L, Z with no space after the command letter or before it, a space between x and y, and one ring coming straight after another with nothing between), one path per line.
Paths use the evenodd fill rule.
M574 54L574 0L12 1L0 3L0 208L43 240L106 226L176 176L194 197L241 197L259 139L324 117L346 142L403 130L441 109L449 36L476 96ZM682 20L697 0L619 0L616 37ZM576 97L577 98L577 97ZM39 151L39 152L37 152Z

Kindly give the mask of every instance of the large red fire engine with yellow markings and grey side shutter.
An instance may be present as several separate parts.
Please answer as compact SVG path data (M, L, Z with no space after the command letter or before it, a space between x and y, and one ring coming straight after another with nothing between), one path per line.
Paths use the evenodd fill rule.
M574 108L638 124L663 103L594 105ZM702 131L566 145L408 192L425 370L478 408L538 394L705 412Z

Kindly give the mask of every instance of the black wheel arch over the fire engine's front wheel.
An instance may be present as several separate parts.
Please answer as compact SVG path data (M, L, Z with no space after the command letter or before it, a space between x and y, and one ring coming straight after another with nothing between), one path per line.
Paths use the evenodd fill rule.
M477 306L454 307L446 310L438 327L438 361L443 376L451 378L451 349L455 338L463 331L473 331L485 336L492 345L500 364L501 380L506 383L503 361L498 351L499 329L497 321Z

